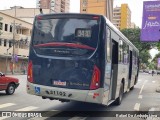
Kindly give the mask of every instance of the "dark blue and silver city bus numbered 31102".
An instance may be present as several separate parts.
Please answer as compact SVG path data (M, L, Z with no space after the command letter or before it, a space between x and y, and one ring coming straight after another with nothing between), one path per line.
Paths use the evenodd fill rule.
M35 17L27 93L61 102L121 104L138 80L138 49L97 14Z

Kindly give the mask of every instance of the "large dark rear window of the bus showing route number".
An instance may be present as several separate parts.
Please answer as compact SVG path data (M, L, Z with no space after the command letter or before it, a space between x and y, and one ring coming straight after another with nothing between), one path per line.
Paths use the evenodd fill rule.
M35 20L32 45L37 54L90 56L97 47L97 19L41 18Z

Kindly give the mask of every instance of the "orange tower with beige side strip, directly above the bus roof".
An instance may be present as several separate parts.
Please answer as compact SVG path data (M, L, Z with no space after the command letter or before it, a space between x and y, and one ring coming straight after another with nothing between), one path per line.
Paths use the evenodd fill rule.
M113 0L80 0L80 13L93 13L113 18Z

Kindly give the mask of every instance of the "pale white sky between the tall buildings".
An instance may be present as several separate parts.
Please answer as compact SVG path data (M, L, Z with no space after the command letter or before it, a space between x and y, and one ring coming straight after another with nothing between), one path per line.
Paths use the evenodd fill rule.
M114 7L127 3L131 9L131 21L141 27L143 1L151 0L114 0ZM80 0L70 0L70 12L80 11ZM36 0L0 0L0 10L9 9L12 6L35 8Z

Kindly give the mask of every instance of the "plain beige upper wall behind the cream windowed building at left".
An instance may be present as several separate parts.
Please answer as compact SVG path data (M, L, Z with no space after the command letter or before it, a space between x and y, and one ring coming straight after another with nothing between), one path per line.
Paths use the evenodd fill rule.
M39 8L23 8L21 6L14 6L11 9L0 10L4 14L16 17L18 19L27 21L33 24L34 17L40 14ZM43 9L43 13L50 13L50 9Z

